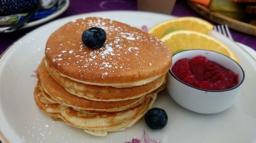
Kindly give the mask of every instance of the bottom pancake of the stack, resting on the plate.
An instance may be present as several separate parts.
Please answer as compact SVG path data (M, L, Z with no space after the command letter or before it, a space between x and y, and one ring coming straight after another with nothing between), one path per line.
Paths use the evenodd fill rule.
M50 116L62 119L67 124L86 129L86 132L93 135L106 135L110 131L123 130L135 124L144 113L152 106L157 93L148 96L150 100L141 103L136 107L129 108L119 112L108 114L91 115L74 110L71 107L63 106L58 103L52 103L42 95L37 84L34 91L34 98L38 107Z

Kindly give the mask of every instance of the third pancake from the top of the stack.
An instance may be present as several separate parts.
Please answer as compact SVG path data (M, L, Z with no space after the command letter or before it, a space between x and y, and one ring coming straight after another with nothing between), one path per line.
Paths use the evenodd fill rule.
M39 83L42 89L44 89L45 91L43 94L48 94L48 96L50 96L62 105L86 110L119 111L130 108L136 104L140 104L144 100L145 95L135 99L114 102L93 101L88 100L86 98L75 96L67 92L64 88L62 88L51 77L51 75L48 73L46 68L44 68L44 66L45 64L41 63L37 69L37 77L40 81Z

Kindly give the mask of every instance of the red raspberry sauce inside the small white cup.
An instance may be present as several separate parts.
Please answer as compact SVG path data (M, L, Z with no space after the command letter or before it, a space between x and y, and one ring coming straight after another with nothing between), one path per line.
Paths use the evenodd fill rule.
M205 90L226 90L238 84L238 75L204 56L177 61L172 72L180 80Z

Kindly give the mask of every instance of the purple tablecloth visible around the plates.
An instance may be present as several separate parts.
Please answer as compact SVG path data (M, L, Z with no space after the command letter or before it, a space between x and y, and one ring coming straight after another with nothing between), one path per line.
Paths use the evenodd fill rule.
M108 11L108 10L137 10L137 2L136 0L70 0L70 6L66 12L61 14L59 17L55 18L63 18L71 15L87 13L87 12L96 12L96 11ZM174 6L174 10L172 12L174 16L196 16L201 17L193 10L191 10L184 0L176 1ZM203 18L203 17L201 17ZM39 25L40 26L40 25ZM7 49L13 42L18 40L20 37L26 35L26 33L32 31L34 28L38 26L21 30L14 34L9 35L0 35L0 54L3 53L5 49ZM236 31L231 30L231 34L233 36L234 41L243 43L254 50L256 50L256 38L254 36L242 34Z

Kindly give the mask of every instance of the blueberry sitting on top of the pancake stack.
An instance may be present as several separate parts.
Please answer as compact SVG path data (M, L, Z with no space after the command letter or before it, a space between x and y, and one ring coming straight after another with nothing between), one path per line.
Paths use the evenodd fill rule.
M82 33L82 42L88 48L98 49L106 41L106 33L102 28L92 27Z

